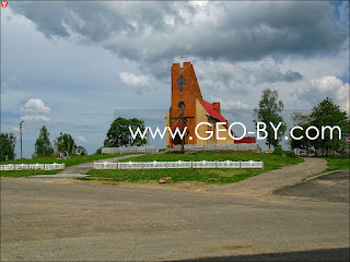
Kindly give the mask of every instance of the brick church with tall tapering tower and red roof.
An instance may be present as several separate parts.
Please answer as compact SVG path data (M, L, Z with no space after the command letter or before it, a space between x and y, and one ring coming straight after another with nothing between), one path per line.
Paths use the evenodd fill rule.
M183 119L182 119L182 114ZM195 134L195 129L198 123L208 122L211 124L201 124L197 133L201 138L210 136L210 132L213 135L209 140L200 140ZM225 140L217 140L217 122L224 122L219 124L218 129L225 130L220 131L219 136L225 138ZM234 144L234 140L229 135L229 122L221 115L220 103L209 103L203 99L194 66L190 62L184 62L180 67L179 63L173 63L172 67L172 105L165 116L166 127L170 127L172 131L178 128L180 131L187 127L184 142L185 144L194 145L207 145L207 144ZM184 127L183 127L184 126ZM166 147L174 147L177 144L182 144L180 138L177 135L174 140L166 133Z

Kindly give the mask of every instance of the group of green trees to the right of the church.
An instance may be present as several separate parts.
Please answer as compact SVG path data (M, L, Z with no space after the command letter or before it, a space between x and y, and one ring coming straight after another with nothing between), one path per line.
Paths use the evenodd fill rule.
M258 107L254 109L254 122L272 122L275 127L281 122L277 132L277 139L270 124L266 126L268 135L266 138L266 145L270 148L281 151L281 142L287 131L287 123L284 122L281 112L283 111L284 104L278 98L278 92L266 88L261 93ZM340 107L329 97L319 102L314 106L310 114L301 114L294 111L292 114L293 127L301 127L293 130L294 138L289 138L289 146L295 153L305 153L310 155L313 153L315 156L329 156L337 154L345 154L346 148L349 146L346 138L350 135L350 118L346 111L340 110ZM319 132L323 127L339 127L339 129L325 129L324 135ZM307 128L313 127L307 133ZM318 130L318 133L317 131ZM318 135L317 135L318 134ZM339 136L341 139L339 139ZM300 139L301 138L301 139ZM310 139L312 138L312 139Z

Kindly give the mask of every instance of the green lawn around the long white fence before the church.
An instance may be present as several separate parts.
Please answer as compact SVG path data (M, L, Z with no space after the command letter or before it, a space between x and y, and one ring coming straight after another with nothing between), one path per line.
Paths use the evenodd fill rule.
M125 159L124 162L129 162ZM250 152L198 152L192 154L155 154L137 156L132 162L172 162L172 160L262 160L264 169L91 169L88 174L95 180L107 180L113 182L144 182L158 181L163 177L171 177L172 183L183 181L198 181L203 183L231 183L258 174L278 169L283 166L294 165L303 162L302 158L291 158L273 154L254 154Z

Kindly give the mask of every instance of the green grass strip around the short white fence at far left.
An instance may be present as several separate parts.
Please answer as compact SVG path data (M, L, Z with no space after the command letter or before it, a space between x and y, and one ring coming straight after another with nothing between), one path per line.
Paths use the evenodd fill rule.
M125 154L122 154L125 155ZM51 163L65 163L66 167L94 162L98 159L106 159L110 157L120 156L120 154L103 154L103 155L72 155L69 159L57 159L56 157L42 157L42 158L34 158L34 159L16 159L16 160L9 160L9 162L0 162L1 165L3 164L51 164ZM55 175L62 170L13 170L13 171L0 171L0 177L27 177L33 175Z

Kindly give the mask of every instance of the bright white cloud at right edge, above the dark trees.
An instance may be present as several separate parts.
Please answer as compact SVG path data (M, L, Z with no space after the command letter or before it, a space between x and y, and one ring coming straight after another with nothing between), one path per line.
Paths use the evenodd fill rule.
M324 76L320 79L313 79L310 81L311 84L319 92L335 92L336 98L340 104L340 108L346 111L349 109L349 83L342 83L341 80L336 76Z

